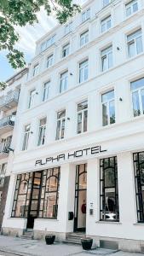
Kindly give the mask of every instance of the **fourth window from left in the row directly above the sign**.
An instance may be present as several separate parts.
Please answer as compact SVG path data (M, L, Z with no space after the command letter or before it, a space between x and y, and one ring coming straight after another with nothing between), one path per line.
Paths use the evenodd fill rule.
M88 101L78 104L78 128L77 133L87 131L88 123Z

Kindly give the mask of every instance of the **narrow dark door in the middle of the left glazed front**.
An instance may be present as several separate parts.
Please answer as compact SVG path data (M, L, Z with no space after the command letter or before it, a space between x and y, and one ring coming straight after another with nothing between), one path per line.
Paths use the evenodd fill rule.
M34 220L37 218L38 202L41 187L42 172L33 172L32 191L30 195L30 204L27 212L27 229L33 229Z

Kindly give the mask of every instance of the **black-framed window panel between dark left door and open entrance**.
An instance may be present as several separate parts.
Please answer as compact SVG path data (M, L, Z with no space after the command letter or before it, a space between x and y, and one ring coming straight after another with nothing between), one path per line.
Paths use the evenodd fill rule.
M60 167L43 171L39 218L57 218L60 187Z

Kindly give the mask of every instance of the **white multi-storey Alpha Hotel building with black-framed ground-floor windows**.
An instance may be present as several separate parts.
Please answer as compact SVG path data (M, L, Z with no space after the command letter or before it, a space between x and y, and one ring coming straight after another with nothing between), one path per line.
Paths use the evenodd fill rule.
M144 0L94 0L37 41L3 234L144 247ZM78 236L78 235L77 235Z

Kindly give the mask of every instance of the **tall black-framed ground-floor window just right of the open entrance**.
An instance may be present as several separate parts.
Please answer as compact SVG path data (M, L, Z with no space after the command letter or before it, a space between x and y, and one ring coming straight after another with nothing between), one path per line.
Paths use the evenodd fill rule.
M116 156L100 160L100 220L119 221Z

